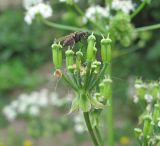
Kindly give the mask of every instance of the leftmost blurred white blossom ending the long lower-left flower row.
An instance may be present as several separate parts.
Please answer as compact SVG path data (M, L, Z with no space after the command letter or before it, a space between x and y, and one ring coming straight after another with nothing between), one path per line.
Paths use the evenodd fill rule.
M12 106L5 106L2 112L9 122L14 121L17 117L17 113Z

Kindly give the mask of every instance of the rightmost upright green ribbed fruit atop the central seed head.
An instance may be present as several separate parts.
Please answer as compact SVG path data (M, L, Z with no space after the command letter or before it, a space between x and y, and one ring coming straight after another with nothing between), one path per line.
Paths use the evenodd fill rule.
M111 42L112 40L109 37L101 40L101 57L103 63L111 62Z

